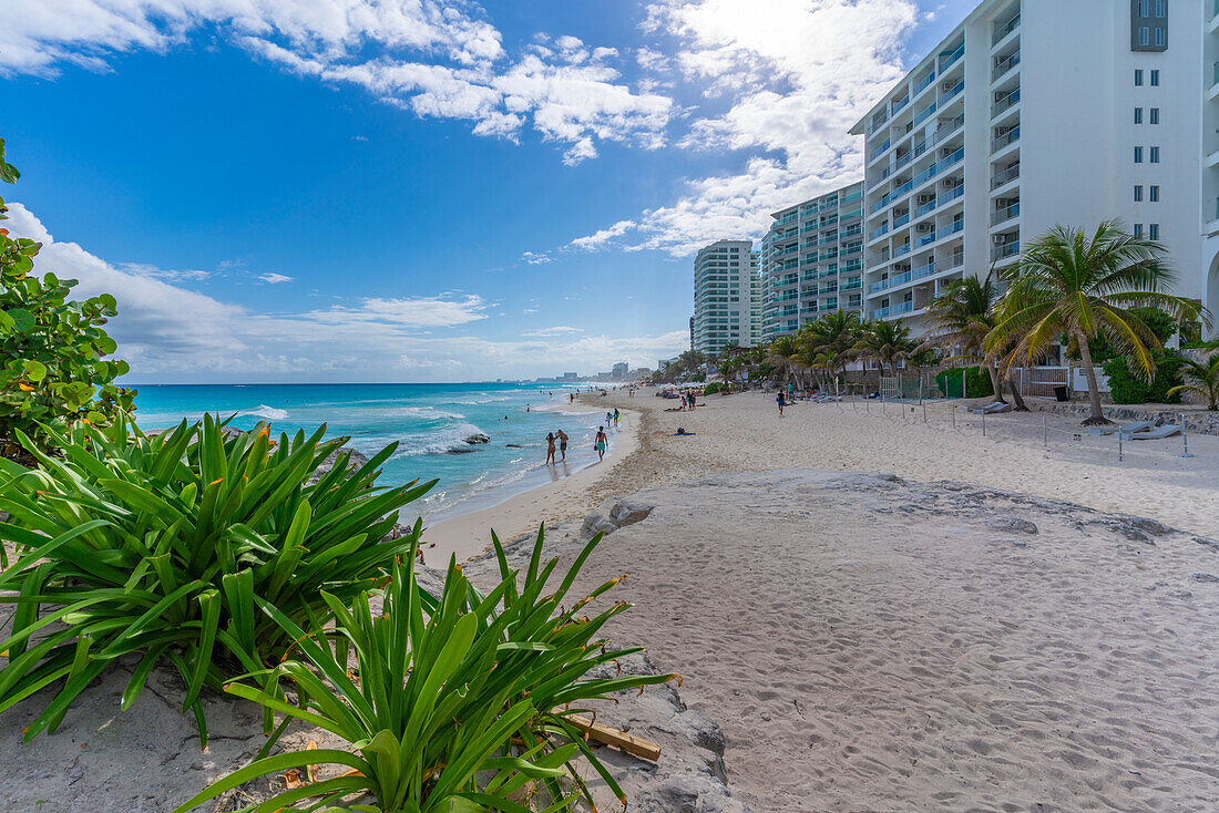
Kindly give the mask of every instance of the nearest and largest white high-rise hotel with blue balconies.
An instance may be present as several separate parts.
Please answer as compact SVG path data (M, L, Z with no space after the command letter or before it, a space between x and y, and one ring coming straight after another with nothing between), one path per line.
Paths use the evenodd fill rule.
M851 132L869 318L1111 217L1219 313L1219 0L986 0Z

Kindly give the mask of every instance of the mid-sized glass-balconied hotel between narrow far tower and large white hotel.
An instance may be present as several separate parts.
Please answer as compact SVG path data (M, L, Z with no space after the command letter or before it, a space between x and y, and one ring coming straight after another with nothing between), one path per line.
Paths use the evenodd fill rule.
M774 212L762 238L762 336L863 310L863 183Z

